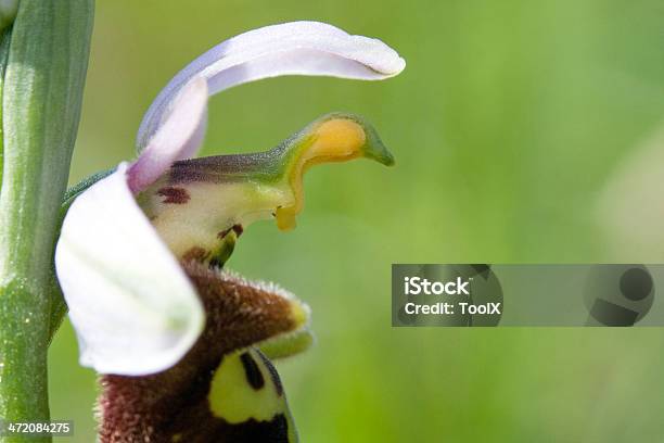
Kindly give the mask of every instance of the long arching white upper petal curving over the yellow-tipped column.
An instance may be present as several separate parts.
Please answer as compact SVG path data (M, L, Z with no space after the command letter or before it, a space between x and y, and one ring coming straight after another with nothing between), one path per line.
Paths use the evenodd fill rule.
M202 76L209 92L282 75L380 80L399 74L406 62L381 40L352 36L332 25L293 22L266 26L216 46L184 67L154 100L139 128L139 152L164 121L170 102L191 78Z

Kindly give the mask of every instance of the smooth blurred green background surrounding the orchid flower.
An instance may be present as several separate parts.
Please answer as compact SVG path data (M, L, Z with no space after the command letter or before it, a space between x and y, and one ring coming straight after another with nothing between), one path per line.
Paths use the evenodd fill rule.
M408 62L388 81L279 78L210 104L203 154L349 111L397 159L314 169L298 228L253 225L230 262L312 307L317 345L279 365L302 440L664 441L660 329L393 329L390 306L392 263L664 258L614 248L597 217L664 122L664 2L100 0L72 182L133 156L142 113L194 56L293 20ZM95 375L68 324L50 365L53 417L93 441Z

